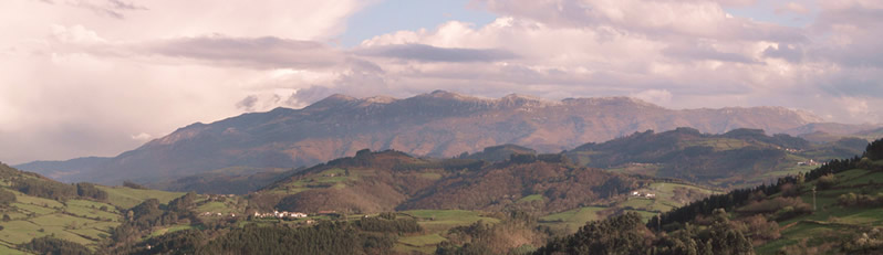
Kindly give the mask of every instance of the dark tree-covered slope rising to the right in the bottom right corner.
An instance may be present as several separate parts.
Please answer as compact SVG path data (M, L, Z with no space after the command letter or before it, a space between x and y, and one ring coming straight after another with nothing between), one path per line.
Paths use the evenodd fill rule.
M588 223L534 254L880 254L883 140L769 185Z

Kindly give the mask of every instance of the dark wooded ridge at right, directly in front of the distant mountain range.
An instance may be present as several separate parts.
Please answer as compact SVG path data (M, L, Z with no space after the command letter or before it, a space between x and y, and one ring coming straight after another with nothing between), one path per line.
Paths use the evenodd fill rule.
M677 128L586 144L565 155L581 166L731 188L806 172L814 162L859 155L866 145L858 138L817 145L788 135L767 136L757 129L713 135Z

